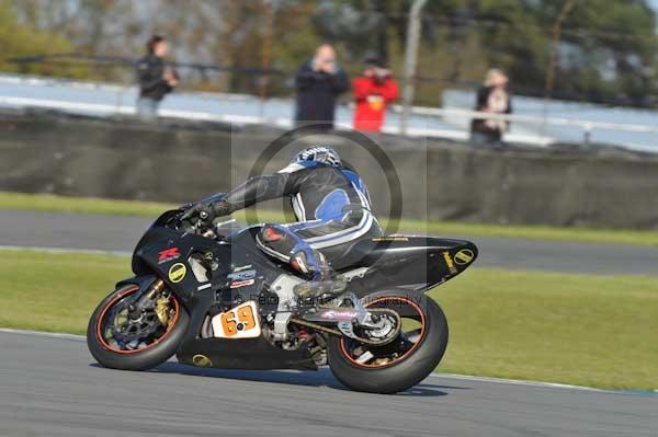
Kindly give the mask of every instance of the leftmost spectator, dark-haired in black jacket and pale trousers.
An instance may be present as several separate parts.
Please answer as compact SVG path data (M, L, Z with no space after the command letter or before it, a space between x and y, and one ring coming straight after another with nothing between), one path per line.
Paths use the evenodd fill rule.
M162 36L151 36L146 50L146 56L137 62L137 114L144 119L155 119L158 116L158 105L164 95L178 87L179 81L177 72L164 64L169 46Z

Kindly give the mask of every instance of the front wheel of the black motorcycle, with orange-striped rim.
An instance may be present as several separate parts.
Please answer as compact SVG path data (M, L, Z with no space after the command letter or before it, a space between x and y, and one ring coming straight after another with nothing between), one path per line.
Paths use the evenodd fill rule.
M121 287L91 315L87 345L104 367L151 369L175 353L185 334L190 315L173 294L160 294L158 307L144 311L137 319L131 317L129 307L139 298L139 291L137 285Z

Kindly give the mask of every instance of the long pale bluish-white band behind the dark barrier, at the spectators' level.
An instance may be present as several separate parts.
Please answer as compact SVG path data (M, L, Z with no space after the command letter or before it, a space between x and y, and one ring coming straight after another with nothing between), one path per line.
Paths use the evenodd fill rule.
M135 87L18 74L0 76L0 106L41 107L101 116L133 115L136 95ZM160 115L235 124L270 124L285 128L292 125L293 106L294 102L290 99L264 100L247 94L189 92L175 93L168 97L160 110ZM352 106L350 104L339 107L337 117L339 128L351 128ZM400 133L400 105L390 106L384 126L385 133ZM572 135L571 141L585 143L590 143L594 134L599 134L599 138L605 138L602 134L609 131L626 133L628 136L644 135L637 140L619 141L619 145L658 152L656 140L658 126L649 124L581 119L578 118L578 114L571 118L524 114L494 115L457 107L413 106L411 115L408 129L410 136L467 140L470 119L495 118L512 122L513 126L515 125L506 136L506 140L510 142L547 146L564 141L559 136L551 135L551 128L564 127L580 133L577 138ZM523 129L523 126L527 128Z

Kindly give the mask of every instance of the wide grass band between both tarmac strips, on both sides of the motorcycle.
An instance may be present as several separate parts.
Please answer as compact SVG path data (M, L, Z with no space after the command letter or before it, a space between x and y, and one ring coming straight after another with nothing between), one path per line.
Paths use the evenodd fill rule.
M83 334L128 258L0 252L0 326ZM658 279L474 268L431 292L451 342L440 371L658 389Z

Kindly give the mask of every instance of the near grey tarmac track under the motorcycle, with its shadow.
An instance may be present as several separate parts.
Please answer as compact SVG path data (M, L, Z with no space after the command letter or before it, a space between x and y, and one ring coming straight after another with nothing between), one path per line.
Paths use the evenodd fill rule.
M0 436L655 437L658 396L430 377L355 393L328 371L98 367L80 340L0 332Z

